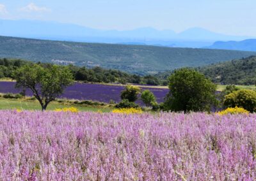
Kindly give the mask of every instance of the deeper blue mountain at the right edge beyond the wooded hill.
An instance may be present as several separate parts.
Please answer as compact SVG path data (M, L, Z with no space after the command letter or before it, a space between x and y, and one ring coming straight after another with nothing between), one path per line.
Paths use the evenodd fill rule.
M205 48L256 52L256 39L249 39L243 41L216 41L210 47Z

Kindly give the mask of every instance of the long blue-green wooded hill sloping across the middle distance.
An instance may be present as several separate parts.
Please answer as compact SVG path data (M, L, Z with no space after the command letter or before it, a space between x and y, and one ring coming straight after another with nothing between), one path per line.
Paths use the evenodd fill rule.
M0 36L0 57L119 69L145 75L256 55L256 52L76 43Z

